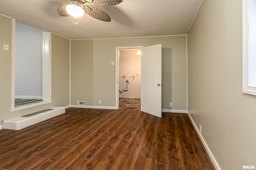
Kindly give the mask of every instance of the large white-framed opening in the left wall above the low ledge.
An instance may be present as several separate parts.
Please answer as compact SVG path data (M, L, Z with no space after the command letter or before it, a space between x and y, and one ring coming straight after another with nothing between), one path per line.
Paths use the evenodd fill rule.
M16 23L14 35L12 111L50 103L50 33Z

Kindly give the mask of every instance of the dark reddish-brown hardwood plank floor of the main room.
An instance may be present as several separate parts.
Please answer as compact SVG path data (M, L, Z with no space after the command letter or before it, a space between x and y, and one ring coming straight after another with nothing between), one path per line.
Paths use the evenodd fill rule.
M68 108L19 131L0 130L0 169L214 170L187 114Z

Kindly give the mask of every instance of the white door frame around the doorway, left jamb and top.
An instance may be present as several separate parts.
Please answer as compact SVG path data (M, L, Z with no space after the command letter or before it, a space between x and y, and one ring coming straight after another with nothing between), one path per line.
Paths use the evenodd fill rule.
M144 46L128 46L128 47L116 47L116 109L119 108L119 90L118 90L118 81L119 81L119 49L140 49Z

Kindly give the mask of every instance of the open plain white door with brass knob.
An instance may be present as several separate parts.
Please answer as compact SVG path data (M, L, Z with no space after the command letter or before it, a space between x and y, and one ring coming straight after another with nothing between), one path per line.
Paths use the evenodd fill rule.
M141 111L162 117L162 44L141 48Z

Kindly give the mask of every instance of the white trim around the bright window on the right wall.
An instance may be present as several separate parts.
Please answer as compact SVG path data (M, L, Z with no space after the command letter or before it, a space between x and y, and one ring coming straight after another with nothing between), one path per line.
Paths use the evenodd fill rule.
M256 87L249 86L249 63L248 63L248 0L243 0L242 4L242 70L243 70L243 84L242 84L242 92L246 94L251 94L256 96Z

